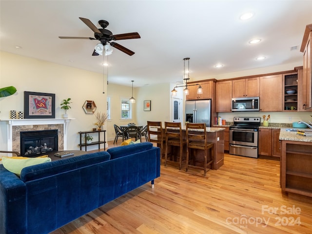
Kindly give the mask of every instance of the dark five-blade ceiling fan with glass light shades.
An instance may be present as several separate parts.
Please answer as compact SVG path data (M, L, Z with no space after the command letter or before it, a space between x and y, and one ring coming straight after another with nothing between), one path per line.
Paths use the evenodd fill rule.
M99 40L100 43L98 43L95 47L95 50L93 52L93 56L101 55L101 51L103 48L109 43L112 47L126 53L127 55L134 55L135 52L127 49L126 47L111 41L111 40L124 40L124 39L138 39L141 38L138 33L124 33L124 34L116 34L113 35L113 33L107 29L105 29L108 26L108 21L106 20L99 20L98 24L102 28L97 28L90 20L79 17L82 22L84 22L91 30L94 32L95 38L83 38L83 37L59 37L60 39L90 39L90 40Z

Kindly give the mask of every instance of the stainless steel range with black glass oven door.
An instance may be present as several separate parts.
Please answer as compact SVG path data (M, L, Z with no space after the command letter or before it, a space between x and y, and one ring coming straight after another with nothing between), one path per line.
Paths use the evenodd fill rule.
M230 126L230 155L258 157L260 117L234 117Z

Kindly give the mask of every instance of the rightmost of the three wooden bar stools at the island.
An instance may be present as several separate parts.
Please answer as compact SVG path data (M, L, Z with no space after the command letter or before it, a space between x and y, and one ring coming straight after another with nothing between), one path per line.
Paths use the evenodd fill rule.
M205 123L186 123L186 171L188 167L204 169L204 176L206 176L207 166L213 163L214 143L207 142L206 137L206 124ZM190 162L190 149L204 150L204 166L195 166L189 164ZM211 157L207 161L208 150L211 151Z

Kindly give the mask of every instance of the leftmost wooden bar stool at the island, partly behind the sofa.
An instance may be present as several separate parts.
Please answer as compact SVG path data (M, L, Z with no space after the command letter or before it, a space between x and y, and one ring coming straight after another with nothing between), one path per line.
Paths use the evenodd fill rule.
M163 152L163 142L165 138L163 137L161 122L147 121L147 135L149 142L157 143L157 146L160 147L160 164Z

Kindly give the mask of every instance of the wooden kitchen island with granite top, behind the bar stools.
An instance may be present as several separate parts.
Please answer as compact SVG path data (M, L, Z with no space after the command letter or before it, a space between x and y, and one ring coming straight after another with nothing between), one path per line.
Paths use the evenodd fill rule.
M216 127L207 127L206 128L206 136L207 141L214 143L214 153L213 153L213 163L211 169L217 170L224 163L224 130L225 128L216 128ZM163 129L163 134L165 134L165 129ZM186 139L186 128L182 126L182 137ZM165 152L166 144L163 144L163 153ZM178 155L179 149L177 147L172 147L172 151L170 151L170 147L168 147L169 153L171 152L174 155ZM186 156L186 147L183 148L183 157ZM195 165L204 163L204 152L202 150L198 150L195 155Z

